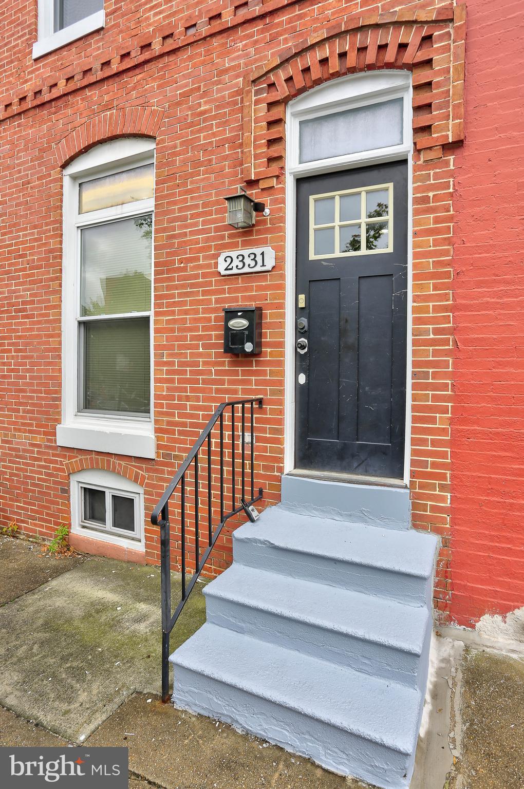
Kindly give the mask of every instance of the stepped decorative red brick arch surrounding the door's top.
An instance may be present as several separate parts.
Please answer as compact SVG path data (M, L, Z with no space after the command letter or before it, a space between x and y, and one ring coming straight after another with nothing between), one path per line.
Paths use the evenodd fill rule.
M294 43L244 84L244 178L275 185L285 163L286 104L346 74L405 69L413 74L414 144L424 159L463 140L466 6L410 6L351 14L314 39Z

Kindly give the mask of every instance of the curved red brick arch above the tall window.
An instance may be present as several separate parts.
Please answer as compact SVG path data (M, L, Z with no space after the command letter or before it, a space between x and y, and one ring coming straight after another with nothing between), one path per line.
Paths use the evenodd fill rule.
M155 137L163 120L164 110L158 107L128 107L111 110L90 118L77 126L55 147L58 164L65 167L72 159L93 145L122 136Z

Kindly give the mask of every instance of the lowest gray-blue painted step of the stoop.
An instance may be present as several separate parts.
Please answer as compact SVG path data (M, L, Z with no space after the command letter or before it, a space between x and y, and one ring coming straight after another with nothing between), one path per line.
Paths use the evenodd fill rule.
M383 787L406 787L421 694L206 623L171 656L174 702Z

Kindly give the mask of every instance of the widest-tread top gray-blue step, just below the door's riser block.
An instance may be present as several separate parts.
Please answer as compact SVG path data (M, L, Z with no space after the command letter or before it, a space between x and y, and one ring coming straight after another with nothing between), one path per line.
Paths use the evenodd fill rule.
M233 533L235 562L426 606L436 545L429 533L312 518L282 505Z

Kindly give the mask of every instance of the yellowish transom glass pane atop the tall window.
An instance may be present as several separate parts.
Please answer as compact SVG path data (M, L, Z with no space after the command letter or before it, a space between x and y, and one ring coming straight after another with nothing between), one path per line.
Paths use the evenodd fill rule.
M153 196L154 178L154 165L144 164L133 167L133 170L84 181L80 184L78 211L84 214L86 211L147 200Z

